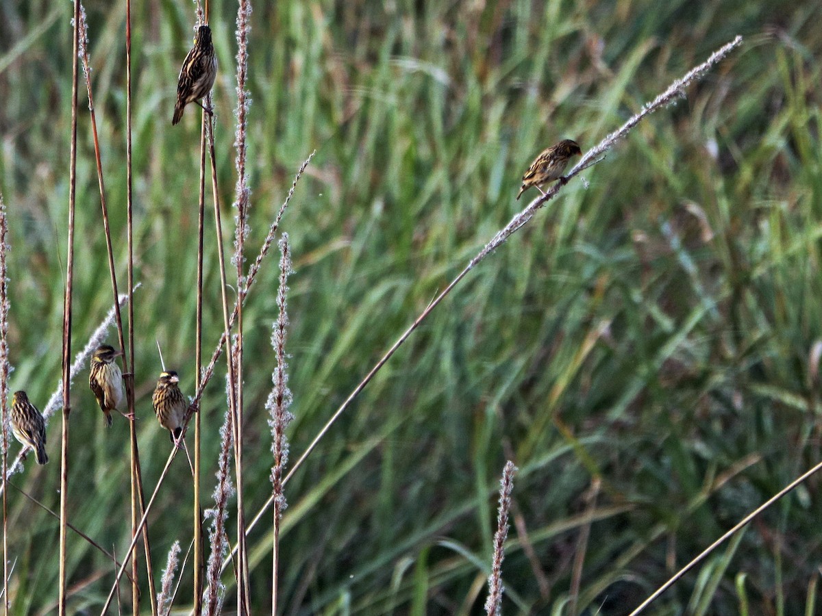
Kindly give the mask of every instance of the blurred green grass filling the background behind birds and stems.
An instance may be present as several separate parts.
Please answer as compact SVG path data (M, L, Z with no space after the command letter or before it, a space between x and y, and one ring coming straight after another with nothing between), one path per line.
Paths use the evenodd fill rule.
M520 177L540 149L566 137L595 145L713 49L745 37L687 99L649 117L584 172L587 182L571 182L473 270L321 441L288 485L283 614L481 612L508 457L520 467L519 525L503 564L504 612L570 614L577 559L577 611L626 614L820 461L819 375L809 356L822 338L822 7L776 4L254 2L247 256L316 149L282 227L295 269L292 460L522 207L514 200ZM11 388L27 389L43 407L60 376L72 5L0 7ZM85 7L124 288L124 3ZM236 5L215 0L211 12L230 247ZM191 106L180 126L170 125L193 15L192 2L180 0L132 7L136 389L147 490L169 453L150 403L155 339L183 390L194 387L199 113ZM85 101L84 89L76 350L112 301ZM206 223L210 353L222 316ZM272 251L245 312L250 514L270 494L263 405L275 367L276 259ZM121 554L130 533L127 424L115 417L104 430L86 378L72 388L69 519ZM223 379L212 382L203 408L205 506ZM59 426L48 427L52 462L35 467L30 459L12 480L55 509ZM157 577L173 540L183 551L191 540L191 494L181 456L150 517ZM813 602L822 602L820 508L812 479L649 613L814 613ZM11 490L9 527L13 613L49 613L58 523ZM259 614L270 605L270 528L262 524L249 539ZM75 535L68 549L70 611L98 613L112 564ZM175 614L191 605L191 576L188 563ZM231 613L230 574L224 581Z

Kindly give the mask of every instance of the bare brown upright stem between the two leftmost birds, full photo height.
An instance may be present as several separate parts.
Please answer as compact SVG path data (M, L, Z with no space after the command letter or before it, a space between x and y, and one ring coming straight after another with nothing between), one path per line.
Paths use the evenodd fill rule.
M80 0L74 0L74 42L72 53L72 138L68 172L68 241L66 259L66 292L62 304L62 440L60 447L60 572L58 612L66 614L66 533L68 505L68 416L72 411L69 398L72 365L72 283L74 281L74 205L77 186L77 85L80 52ZM4 490L5 491L5 490Z

